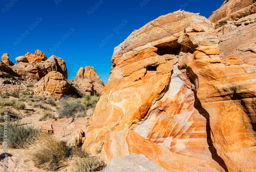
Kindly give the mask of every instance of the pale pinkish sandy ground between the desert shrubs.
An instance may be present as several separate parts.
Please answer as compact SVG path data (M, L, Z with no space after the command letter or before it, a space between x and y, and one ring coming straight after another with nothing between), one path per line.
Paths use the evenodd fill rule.
M25 103L25 105L26 105L26 108L24 110L16 110L14 108L8 109L9 114L16 115L21 118L21 119L19 119L20 124L39 127L40 125L42 125L46 122L52 121L52 119L49 119L47 121L39 121L39 119L42 116L43 110L39 109L39 108L32 108L31 106L27 105L26 103ZM55 117L57 117L58 115L56 113L56 107L51 106L51 108L53 110L53 113L55 114ZM87 113L91 114L92 109L89 109L87 111ZM88 128L89 128L89 126L83 127L82 129L84 132L87 132ZM72 133L66 133L65 135L63 135L64 133L55 134L54 136L60 140L69 141L76 131L77 130L73 131ZM34 166L33 162L31 160L29 160L29 157L27 155L28 151L29 150L24 150L24 149L8 149L8 169L6 169L6 168L4 168L4 164L3 164L4 150L3 150L3 146L1 146L0 147L0 172L2 172L2 171L4 171L4 172L29 172L29 171L46 172L46 170L42 170L42 169L39 169ZM60 172L74 171L72 169L72 163L74 161L75 161L75 158L68 159L67 167L62 168L59 171Z

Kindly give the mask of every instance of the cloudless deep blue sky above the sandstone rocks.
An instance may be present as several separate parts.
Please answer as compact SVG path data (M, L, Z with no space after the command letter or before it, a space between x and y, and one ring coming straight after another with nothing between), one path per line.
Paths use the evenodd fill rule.
M134 29L179 9L208 18L223 2L2 0L0 54L8 53L15 64L17 56L39 49L47 58L56 55L66 61L68 79L80 67L93 66L106 83L114 47Z

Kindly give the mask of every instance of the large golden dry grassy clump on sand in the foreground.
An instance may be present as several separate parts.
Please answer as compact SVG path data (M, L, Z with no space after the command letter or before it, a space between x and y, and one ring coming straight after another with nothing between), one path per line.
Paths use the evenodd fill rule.
M35 166L45 170L57 170L66 165L69 148L49 134L41 134L31 146L30 158Z

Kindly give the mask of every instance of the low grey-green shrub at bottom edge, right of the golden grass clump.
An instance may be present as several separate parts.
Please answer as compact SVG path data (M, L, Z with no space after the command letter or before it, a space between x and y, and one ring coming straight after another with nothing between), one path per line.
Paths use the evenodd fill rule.
M102 170L105 164L99 157L86 156L77 159L73 166L77 172L93 172Z

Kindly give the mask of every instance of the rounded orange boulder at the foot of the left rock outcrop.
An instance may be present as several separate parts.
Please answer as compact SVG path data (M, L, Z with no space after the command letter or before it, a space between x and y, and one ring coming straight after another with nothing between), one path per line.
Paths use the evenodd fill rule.
M35 95L59 98L64 94L72 93L72 86L60 72L52 71L34 85L33 92Z

